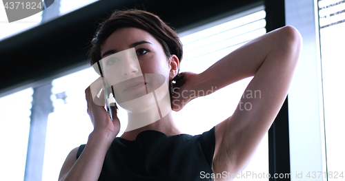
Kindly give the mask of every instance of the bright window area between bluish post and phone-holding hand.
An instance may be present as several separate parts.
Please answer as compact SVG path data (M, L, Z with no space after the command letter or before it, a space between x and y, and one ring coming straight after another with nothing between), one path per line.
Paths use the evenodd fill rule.
M42 180L57 180L63 162L75 147L85 144L93 130L86 112L85 89L98 78L88 68L52 81L54 112L48 117Z

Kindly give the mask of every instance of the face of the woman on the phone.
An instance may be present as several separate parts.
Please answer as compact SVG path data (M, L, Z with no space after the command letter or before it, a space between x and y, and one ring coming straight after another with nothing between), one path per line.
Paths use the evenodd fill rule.
M155 91L178 69L171 66L177 57L168 59L159 41L138 28L120 28L113 32L101 45L101 58L103 74L108 85L114 85L120 105Z

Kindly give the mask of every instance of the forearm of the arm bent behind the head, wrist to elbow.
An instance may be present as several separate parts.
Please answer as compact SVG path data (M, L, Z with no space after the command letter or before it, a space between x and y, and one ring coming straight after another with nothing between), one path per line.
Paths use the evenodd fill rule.
M282 37L283 36L283 37ZM217 61L196 77L195 89L221 89L249 76L255 76L267 56L284 45L284 32L275 30L259 36Z

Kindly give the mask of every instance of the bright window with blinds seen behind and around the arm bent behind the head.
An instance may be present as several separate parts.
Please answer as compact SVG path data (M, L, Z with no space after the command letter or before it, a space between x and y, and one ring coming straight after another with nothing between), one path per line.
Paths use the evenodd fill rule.
M265 34L265 17L264 7L260 6L194 30L181 32L184 58L181 61L180 72L204 72L220 58L251 39ZM213 94L192 100L184 109L174 112L175 121L181 131L192 135L201 134L231 116L252 78L245 78ZM253 156L253 160L242 173L251 175L246 178L236 178L236 180L268 180L264 178L269 173L267 134Z

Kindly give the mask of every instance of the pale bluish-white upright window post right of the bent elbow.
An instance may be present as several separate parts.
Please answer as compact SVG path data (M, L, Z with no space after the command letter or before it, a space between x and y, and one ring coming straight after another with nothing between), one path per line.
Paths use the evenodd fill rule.
M288 94L291 180L297 180L298 173L303 173L303 180L310 180L306 178L308 172L326 171L317 0L285 1L285 10L286 25L297 28L303 38L302 54ZM303 18L299 18L301 15Z

